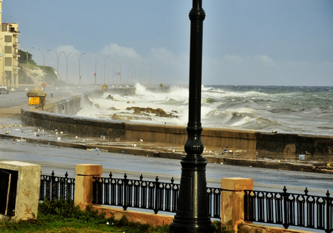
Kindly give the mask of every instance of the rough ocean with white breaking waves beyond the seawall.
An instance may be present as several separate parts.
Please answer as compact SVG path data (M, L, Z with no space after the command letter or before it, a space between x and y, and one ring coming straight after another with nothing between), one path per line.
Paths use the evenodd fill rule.
M77 116L187 126L186 86L160 92L137 84L135 94L108 95L91 98L94 105L83 106ZM201 97L203 128L333 136L333 87L202 86Z

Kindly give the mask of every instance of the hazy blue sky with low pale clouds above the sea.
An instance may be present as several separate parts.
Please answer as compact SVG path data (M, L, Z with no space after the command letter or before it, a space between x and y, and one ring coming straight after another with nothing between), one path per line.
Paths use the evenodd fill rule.
M203 85L333 86L333 0L202 7ZM3 0L2 23L19 23L21 49L33 47L38 65L57 70L59 56L65 81L66 67L75 82L80 65L82 82L92 82L97 63L97 81L108 84L121 67L123 84L188 85L191 8L191 0Z

